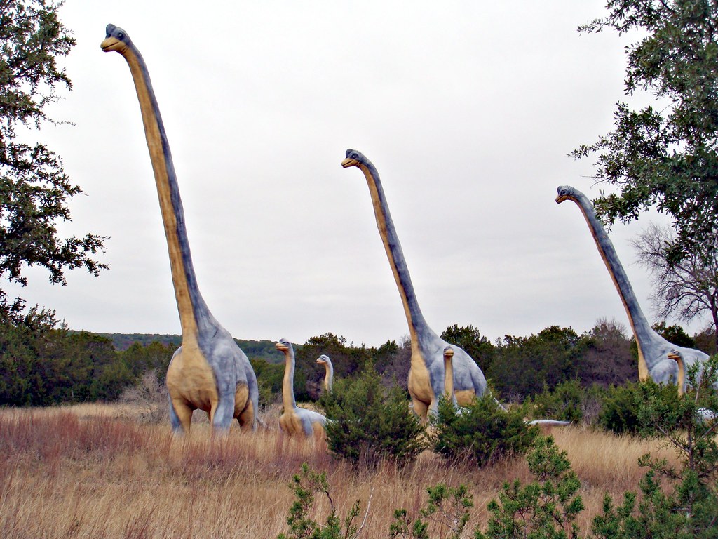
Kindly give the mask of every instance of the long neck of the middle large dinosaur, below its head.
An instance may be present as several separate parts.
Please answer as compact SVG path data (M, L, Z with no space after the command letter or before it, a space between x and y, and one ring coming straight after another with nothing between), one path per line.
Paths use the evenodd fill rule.
M396 285L401 295L401 303L404 305L404 313L406 314L406 322L409 323L409 333L411 333L412 346L418 346L421 338L430 333L431 330L421 314L419 302L416 300L414 285L411 284L409 269L406 267L404 252L401 251L396 229L394 229L393 221L389 207L384 197L384 190L381 188L381 180L379 180L378 172L373 166L368 167L363 163L359 168L364 172L366 182L369 185L369 192L374 206L374 214L376 215L376 226L378 226L381 241L383 241L386 256L391 265L391 271L396 280Z

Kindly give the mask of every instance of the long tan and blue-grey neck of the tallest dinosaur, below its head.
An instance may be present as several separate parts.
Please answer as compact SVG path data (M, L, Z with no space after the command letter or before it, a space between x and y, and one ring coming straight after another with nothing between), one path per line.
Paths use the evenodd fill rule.
M159 195L159 207L162 211L164 234L167 236L169 265L172 269L177 309L180 311L182 335L196 335L200 323L208 321L210 315L197 288L190 244L187 241L185 212L182 209L180 188L174 174L172 154L169 152L162 116L159 114L157 98L154 96L142 55L134 46L126 47L121 54L129 65L142 112L147 147Z

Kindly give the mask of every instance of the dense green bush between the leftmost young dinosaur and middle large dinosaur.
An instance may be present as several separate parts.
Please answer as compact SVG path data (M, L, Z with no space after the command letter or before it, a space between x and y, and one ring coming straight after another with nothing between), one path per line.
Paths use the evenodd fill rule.
M409 411L405 392L389 390L370 365L352 381L339 379L322 394L327 416L327 443L335 457L374 466L381 459L404 465L424 450L424 426Z

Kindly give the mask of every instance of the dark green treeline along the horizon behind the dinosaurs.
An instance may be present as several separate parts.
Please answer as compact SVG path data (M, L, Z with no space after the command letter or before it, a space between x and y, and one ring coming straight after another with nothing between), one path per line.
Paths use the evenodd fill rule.
M688 336L680 326L654 326L669 341L714 354L712 338ZM577 380L603 387L635 381L633 339L616 323L599 321L582 334L549 326L535 335L488 341L473 326L451 326L442 337L465 349L479 364L502 400L521 402L558 384ZM54 405L62 402L116 400L149 371L164 382L169 360L180 344L176 335L88 333L56 328L32 316L24 323L0 324L0 405ZM284 357L273 341L240 341L256 372L261 402L281 400ZM411 346L387 341L378 347L347 346L346 339L325 333L295 344L297 400L315 400L324 371L315 360L331 357L335 377L354 377L373 364L383 382L405 387Z

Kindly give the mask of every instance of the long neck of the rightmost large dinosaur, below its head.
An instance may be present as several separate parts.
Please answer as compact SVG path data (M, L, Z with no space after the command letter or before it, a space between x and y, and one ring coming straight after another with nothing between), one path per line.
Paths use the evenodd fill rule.
M618 290L618 295L620 295L621 301L623 302L623 307L628 315L628 321L633 330L636 345L638 346L638 377L640 380L645 381L649 376L644 349L648 344L648 339L651 338L651 334L653 333L651 324L648 323L648 319L643 315L643 310L640 309L638 299L635 297L633 287L628 280L628 275L626 275L625 270L623 270L623 264L621 264L618 259L618 254L608 234L606 234L603 225L598 220L592 203L587 196L582 193L572 196L571 199L581 208L589 229L591 229L596 247L598 247L601 258L606 264L613 284L616 290Z

